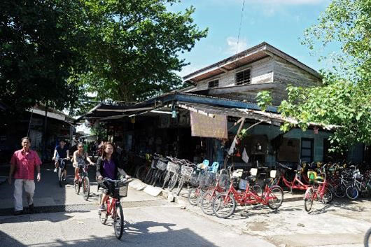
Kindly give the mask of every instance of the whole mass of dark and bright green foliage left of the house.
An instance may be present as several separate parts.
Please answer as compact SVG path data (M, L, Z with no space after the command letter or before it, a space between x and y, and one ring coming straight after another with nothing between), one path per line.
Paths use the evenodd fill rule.
M0 101L83 108L94 99L136 101L181 86L189 51L206 36L194 8L176 0L0 1ZM76 111L75 111L76 112ZM76 112L78 113L78 112Z

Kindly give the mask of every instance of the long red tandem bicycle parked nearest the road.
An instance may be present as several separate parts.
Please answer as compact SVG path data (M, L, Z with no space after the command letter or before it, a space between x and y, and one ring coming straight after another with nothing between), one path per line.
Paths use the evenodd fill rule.
M234 187L236 178L232 178L228 192L221 193L214 198L213 212L218 218L228 218L235 213L236 202L241 206L246 204L257 204L269 206L270 209L278 209L283 202L283 190L278 185L272 187L268 183L272 179L265 179L265 189L262 195L258 195L254 190L250 190L250 184L247 184L245 192L238 192Z

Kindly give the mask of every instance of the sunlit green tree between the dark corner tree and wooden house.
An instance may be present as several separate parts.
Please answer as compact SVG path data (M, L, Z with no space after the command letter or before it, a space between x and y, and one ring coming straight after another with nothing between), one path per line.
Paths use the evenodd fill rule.
M138 101L181 86L179 53L207 35L193 24L195 8L171 13L177 0L83 1L90 34L81 83L97 99Z

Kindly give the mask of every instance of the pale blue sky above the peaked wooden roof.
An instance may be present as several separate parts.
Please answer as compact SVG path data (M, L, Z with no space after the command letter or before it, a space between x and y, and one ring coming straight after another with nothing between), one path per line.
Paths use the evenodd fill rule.
M241 52L263 41L317 71L329 66L325 61L318 62L319 54L311 54L299 38L303 38L304 29L317 23L317 18L330 0L245 0L242 13L243 2L182 0L181 3L169 6L168 10L175 12L194 6L194 23L200 29L209 28L207 38L198 41L190 52L180 55L181 59L190 63L179 73L180 76L186 76L235 55L236 50Z

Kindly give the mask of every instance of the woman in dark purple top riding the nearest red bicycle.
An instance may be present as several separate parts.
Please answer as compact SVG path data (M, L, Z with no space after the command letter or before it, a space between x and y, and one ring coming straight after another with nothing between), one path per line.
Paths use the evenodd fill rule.
M119 162L118 157L114 154L113 144L110 142L104 143L102 156L97 160L97 181L99 185L104 188L102 195L102 201L100 202L99 210L106 211L105 202L109 199L111 190L113 190L113 184L103 181L103 178L110 178L113 180L118 179L118 173L125 176L125 178L131 178L123 170L123 164Z

